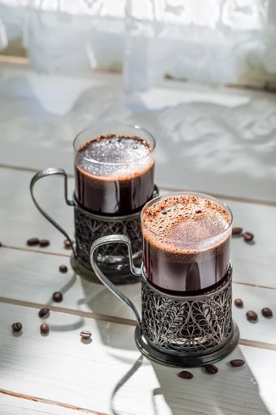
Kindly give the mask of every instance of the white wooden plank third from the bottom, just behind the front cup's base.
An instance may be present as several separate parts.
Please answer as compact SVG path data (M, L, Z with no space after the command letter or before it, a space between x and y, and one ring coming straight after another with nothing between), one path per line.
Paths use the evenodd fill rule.
M70 259L55 255L21 250L0 250L1 297L59 306L65 311L83 311L133 320L132 311L102 284L81 279L70 268ZM68 266L68 273L59 273L59 265ZM121 291L141 310L140 284L120 286ZM52 302L52 293L61 291L63 302ZM261 310L270 307L276 315L275 290L233 284L233 298L242 298L244 308L233 307L233 317L239 325L241 337L251 341L276 344L276 319L262 317ZM34 304L35 306L35 304ZM259 315L259 322L246 320L246 311L253 310ZM80 313L81 315L81 313ZM133 320L134 323L134 320Z

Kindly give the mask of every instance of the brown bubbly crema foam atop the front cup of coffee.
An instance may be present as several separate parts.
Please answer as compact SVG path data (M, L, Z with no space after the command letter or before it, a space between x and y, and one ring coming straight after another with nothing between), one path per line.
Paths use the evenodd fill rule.
M230 242L230 230L226 232L230 223L230 214L215 201L185 195L146 208L141 228L151 249L163 251L172 261L189 263L224 251Z

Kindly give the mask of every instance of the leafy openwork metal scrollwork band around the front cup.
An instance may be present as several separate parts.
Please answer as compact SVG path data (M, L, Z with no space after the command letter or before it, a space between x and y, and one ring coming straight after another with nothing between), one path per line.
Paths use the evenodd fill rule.
M232 322L232 268L223 286L206 295L166 295L142 278L142 324L147 340L159 350L193 356L224 344Z

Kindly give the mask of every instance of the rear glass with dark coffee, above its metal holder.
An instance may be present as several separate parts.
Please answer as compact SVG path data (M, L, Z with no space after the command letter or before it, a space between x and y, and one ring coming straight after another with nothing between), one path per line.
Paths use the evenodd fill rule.
M87 143L101 136L117 139L115 143L106 140L104 146L95 149L95 159L86 149ZM133 140L126 145L122 137ZM147 152L141 142L147 143ZM99 214L125 215L137 212L151 199L155 185L155 139L148 131L119 122L92 127L78 134L74 149L75 196L83 208Z

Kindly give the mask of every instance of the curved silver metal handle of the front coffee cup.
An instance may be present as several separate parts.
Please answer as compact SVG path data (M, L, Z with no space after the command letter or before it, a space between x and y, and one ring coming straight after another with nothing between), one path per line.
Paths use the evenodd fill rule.
M133 314L135 315L135 319L137 321L137 324L139 328L141 329L141 319L139 316L139 313L137 311L137 308L135 305L130 301L126 295L121 293L121 291L118 290L118 288L112 284L112 282L109 281L109 279L103 275L99 267L97 266L97 262L94 259L94 252L99 246L105 245L106 243L126 243L126 246L128 246L128 257L130 260L130 270L132 274L134 275L141 275L141 269L137 268L133 265L132 261L132 250L131 250L131 242L128 237L125 235L109 235L108 237L101 237L97 239L95 242L92 243L92 246L90 248L90 262L93 270L95 271L95 274L99 278L99 280L110 290L112 293L114 293L121 301L125 302L132 310Z

